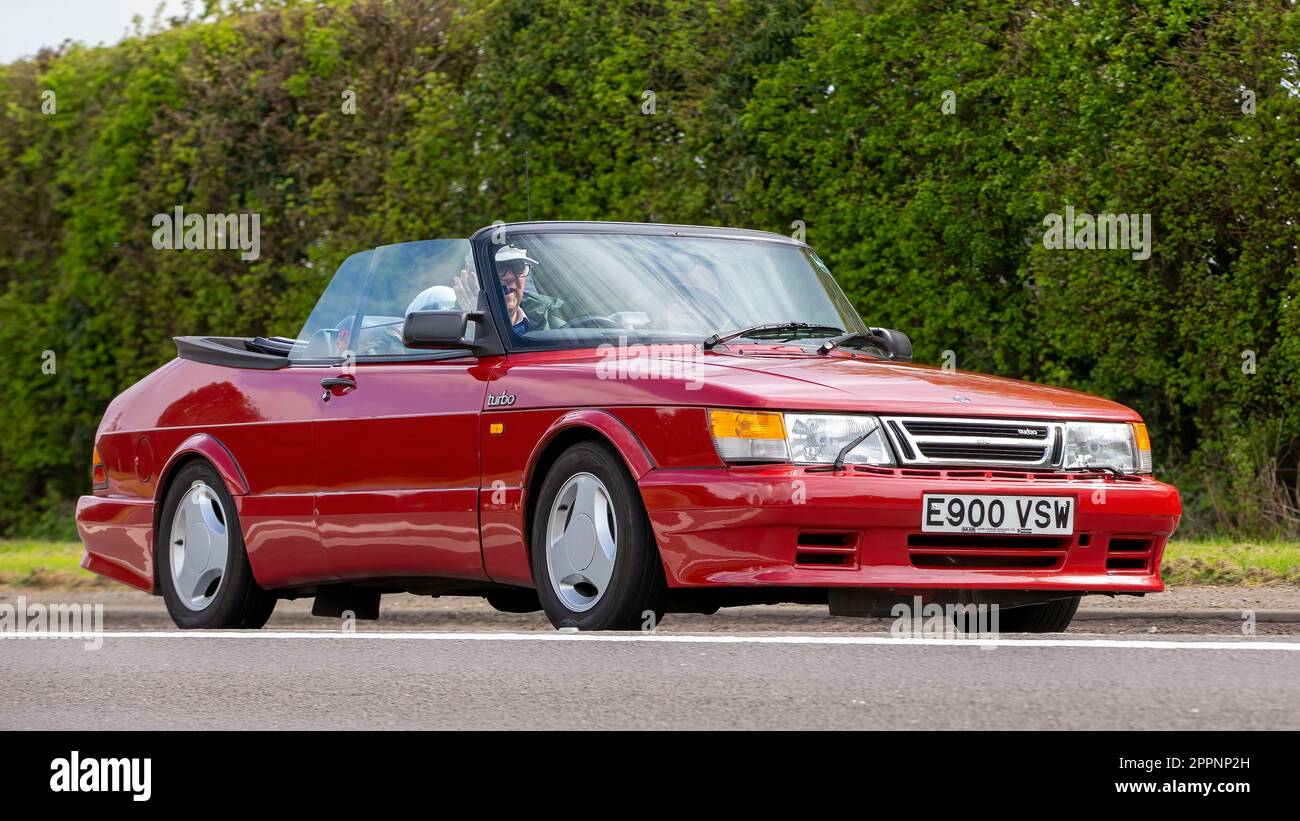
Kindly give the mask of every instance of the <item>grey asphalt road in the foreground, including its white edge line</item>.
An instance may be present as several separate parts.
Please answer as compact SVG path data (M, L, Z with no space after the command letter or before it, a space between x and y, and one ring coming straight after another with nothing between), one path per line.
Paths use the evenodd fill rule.
M0 639L0 729L1300 729L1294 637Z

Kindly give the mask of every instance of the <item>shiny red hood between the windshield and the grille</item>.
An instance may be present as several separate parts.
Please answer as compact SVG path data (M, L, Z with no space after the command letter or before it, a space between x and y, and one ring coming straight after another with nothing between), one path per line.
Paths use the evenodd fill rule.
M1140 421L1114 401L1080 391L978 373L854 356L710 353L707 382L753 404L926 416L1006 416Z

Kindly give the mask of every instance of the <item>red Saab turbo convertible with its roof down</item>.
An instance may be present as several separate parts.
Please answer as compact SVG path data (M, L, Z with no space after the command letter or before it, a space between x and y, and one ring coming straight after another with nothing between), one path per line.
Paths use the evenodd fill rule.
M348 257L292 339L176 342L77 524L181 627L410 591L582 630L914 596L1063 630L1162 590L1180 514L1136 413L913 364L776 234L495 225Z

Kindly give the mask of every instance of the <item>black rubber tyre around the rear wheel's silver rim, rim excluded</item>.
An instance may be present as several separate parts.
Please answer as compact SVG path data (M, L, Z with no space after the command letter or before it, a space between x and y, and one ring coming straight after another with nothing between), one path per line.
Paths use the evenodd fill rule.
M212 600L203 609L191 609L181 600L172 578L172 524L177 507L195 482L202 481L213 491L221 505L220 514L229 534L225 570ZM266 624L276 609L276 596L257 586L248 565L243 530L235 513L235 503L226 483L208 462L195 461L183 466L168 488L155 534L155 557L162 600L177 627L186 630L244 629L256 630Z

